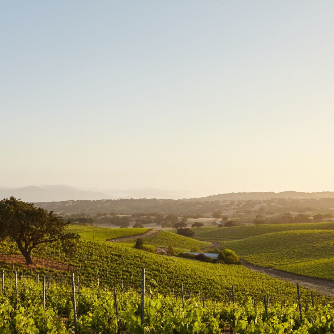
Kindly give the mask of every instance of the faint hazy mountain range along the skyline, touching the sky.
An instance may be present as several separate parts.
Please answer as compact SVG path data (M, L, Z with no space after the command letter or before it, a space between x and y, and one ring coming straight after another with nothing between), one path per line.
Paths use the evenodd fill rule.
M100 200L100 199L119 199L119 198L159 198L159 199L184 199L198 201L220 201L220 200L250 200L250 199L271 199L271 198L334 198L333 191L322 192L232 192L227 194L211 195L199 198L188 198L186 193L180 191L169 191L153 188L129 189L129 190L105 190L86 191L67 185L44 185L29 186L22 188L0 188L0 199L14 196L27 202L58 202L66 200Z

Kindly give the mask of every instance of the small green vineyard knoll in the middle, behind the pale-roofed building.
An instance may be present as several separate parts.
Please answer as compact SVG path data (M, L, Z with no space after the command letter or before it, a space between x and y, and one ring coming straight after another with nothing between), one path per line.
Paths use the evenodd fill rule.
M193 247L204 248L210 245L210 242L198 241L195 239L187 238L183 235L160 231L159 233L143 238L144 244L154 245L157 247L173 247L182 248L184 250L190 250ZM129 243L135 243L136 240L129 240Z

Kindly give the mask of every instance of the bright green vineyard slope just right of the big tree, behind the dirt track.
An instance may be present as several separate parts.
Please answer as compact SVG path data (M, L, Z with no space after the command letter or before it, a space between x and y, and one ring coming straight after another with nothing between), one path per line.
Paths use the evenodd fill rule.
M122 236L142 234L146 232L148 228L107 228L87 225L69 225L67 230L69 232L78 233L86 240L106 241Z

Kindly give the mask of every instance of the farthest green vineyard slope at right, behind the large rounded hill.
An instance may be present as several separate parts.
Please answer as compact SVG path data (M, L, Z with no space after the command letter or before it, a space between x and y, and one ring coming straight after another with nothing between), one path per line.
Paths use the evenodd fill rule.
M195 238L199 240L224 241L233 239L244 239L266 233L315 229L334 230L334 222L306 224L244 225L234 227L201 227L194 228L193 231L195 232Z

